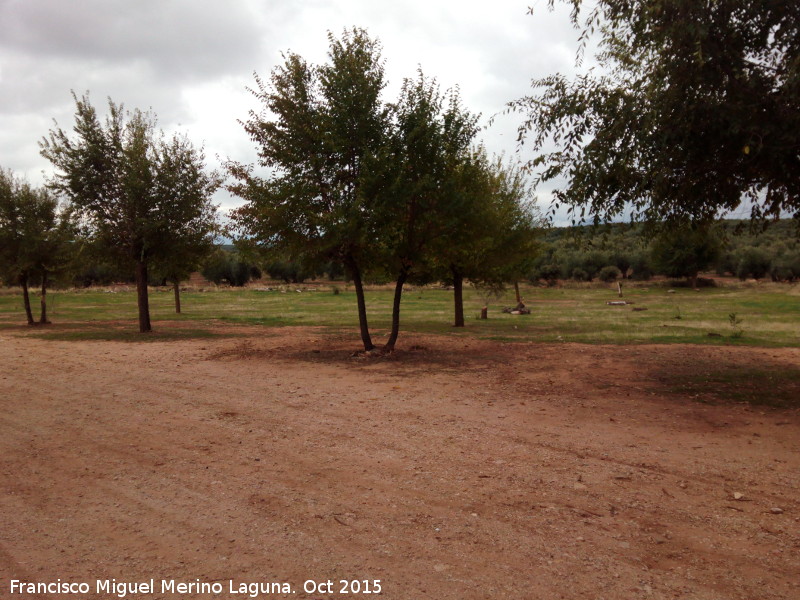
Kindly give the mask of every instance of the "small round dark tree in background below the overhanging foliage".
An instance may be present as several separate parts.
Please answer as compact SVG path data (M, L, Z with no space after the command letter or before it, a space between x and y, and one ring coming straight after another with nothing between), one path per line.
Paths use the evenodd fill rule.
M667 277L687 277L697 288L697 275L705 271L720 254L721 242L708 227L665 231L650 248L656 272Z

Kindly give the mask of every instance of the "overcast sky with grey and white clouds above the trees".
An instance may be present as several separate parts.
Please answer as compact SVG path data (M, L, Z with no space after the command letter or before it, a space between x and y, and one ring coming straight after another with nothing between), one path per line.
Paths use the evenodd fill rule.
M285 50L323 62L327 32L352 26L383 44L388 99L421 66L483 115L490 152L514 155L520 121L490 117L531 79L575 71L578 32L547 0L0 0L0 167L36 184L52 173L38 141L54 119L72 126L71 90L98 108L110 97L152 109L214 167L254 162L237 123L258 109L253 73L268 77ZM237 204L226 192L217 200Z

